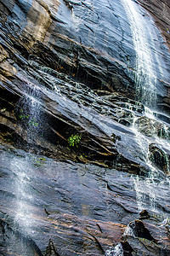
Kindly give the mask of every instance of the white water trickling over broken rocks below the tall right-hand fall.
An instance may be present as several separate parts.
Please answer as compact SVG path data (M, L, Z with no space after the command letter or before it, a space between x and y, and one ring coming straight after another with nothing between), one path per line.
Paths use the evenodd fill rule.
M168 148L170 148L170 143L167 138L158 137L159 134L155 126L155 124L157 124L157 119L154 113L147 109L144 114L148 117L148 122L152 122L152 131L150 132L150 137L153 137L153 147L154 145L156 145L157 163L154 162L154 156L151 152L150 146L152 144L150 144L150 137L145 136L139 131L139 125L137 122L138 118L134 117L132 130L135 134L136 142L139 144L139 148L144 157L144 162L146 166L148 166L149 172L146 177L139 177L133 175L132 178L134 183L134 189L136 191L136 199L139 211L149 209L150 211L159 212L159 209L156 206L156 201L158 201L159 195L164 193L164 191L161 190L161 184L169 184L169 179L164 173L168 175L170 172L169 156L166 153L166 150L168 152ZM166 124L162 123L161 125L162 127L166 127ZM159 152L159 150L161 153ZM161 160L157 159L157 154L161 154L164 165L161 164Z

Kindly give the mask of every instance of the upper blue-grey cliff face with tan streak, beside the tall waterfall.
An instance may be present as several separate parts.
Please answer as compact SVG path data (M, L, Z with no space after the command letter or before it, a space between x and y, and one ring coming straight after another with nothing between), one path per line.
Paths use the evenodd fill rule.
M9 1L1 5L3 35L8 34L5 41L10 40L23 57L44 61L46 66L62 68L65 73L69 70L85 83L88 76L88 84L95 89L107 88L135 97L136 54L122 2ZM161 50L166 59L167 49L158 42L157 51ZM163 68L169 70L168 61L166 65ZM162 81L157 94L164 102L168 77L158 79ZM167 106L168 100L165 102Z

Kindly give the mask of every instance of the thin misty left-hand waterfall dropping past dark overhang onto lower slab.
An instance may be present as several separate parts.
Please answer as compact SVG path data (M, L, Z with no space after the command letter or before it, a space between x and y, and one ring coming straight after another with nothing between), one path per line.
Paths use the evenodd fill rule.
M29 85L29 86L28 86ZM18 102L18 119L23 127L24 137L26 137L26 145L28 151L31 149L31 145L37 140L37 133L42 132L40 125L42 123L42 116L40 113L39 100L40 90L35 84L23 84L26 87L26 96ZM33 217L31 214L31 204L34 198L31 195L30 189L30 177L31 165L29 164L30 155L22 159L11 161L10 167L14 172L14 194L16 198L15 210L14 210L14 232L21 232L24 237L29 237L34 232L32 230ZM27 164L28 162L28 164ZM8 251L17 252L15 246L15 239L12 241L11 246L8 247ZM29 247L23 243L22 247L19 247L20 253L25 256L31 255Z

